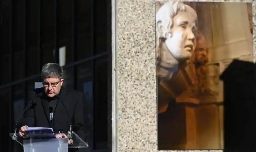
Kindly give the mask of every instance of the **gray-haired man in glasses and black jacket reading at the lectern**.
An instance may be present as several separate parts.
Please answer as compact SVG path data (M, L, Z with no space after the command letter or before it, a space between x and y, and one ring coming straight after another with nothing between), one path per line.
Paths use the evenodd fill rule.
M63 69L56 63L47 63L42 67L43 87L30 92L19 126L19 136L26 138L27 127L46 127L55 131L72 130L83 140L86 138L84 122L84 95L78 91L63 87ZM57 138L68 138L65 134L57 134ZM69 145L72 139L67 139Z

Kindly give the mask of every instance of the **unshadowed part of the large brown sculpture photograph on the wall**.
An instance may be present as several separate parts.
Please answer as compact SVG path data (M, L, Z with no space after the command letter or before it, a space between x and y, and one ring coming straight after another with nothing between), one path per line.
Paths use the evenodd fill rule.
M159 150L224 149L220 75L252 34L252 3L156 2Z

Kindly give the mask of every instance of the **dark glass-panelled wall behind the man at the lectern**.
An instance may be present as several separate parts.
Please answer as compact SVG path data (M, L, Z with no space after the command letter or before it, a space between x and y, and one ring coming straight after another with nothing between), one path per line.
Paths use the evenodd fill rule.
M0 151L15 151L13 132L43 64L59 63L65 46L65 82L87 94L86 124L92 150L107 150L110 0L0 1ZM6 151L6 150L5 150Z

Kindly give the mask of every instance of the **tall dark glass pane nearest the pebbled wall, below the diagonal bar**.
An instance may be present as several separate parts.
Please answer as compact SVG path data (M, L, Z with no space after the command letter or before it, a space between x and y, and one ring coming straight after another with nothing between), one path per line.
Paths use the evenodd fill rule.
M95 62L94 138L95 148L107 148L107 57Z

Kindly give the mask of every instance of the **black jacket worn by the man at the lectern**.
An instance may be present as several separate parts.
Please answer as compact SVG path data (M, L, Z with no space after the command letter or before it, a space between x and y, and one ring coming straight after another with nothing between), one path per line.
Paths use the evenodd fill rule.
M47 127L53 128L54 131L67 132L70 129L71 118L72 130L86 140L84 95L82 93L62 87L52 122L49 116L49 102L46 100L44 89L34 89L29 94L27 104L31 100L33 100L32 104L24 113L24 118L19 126Z

